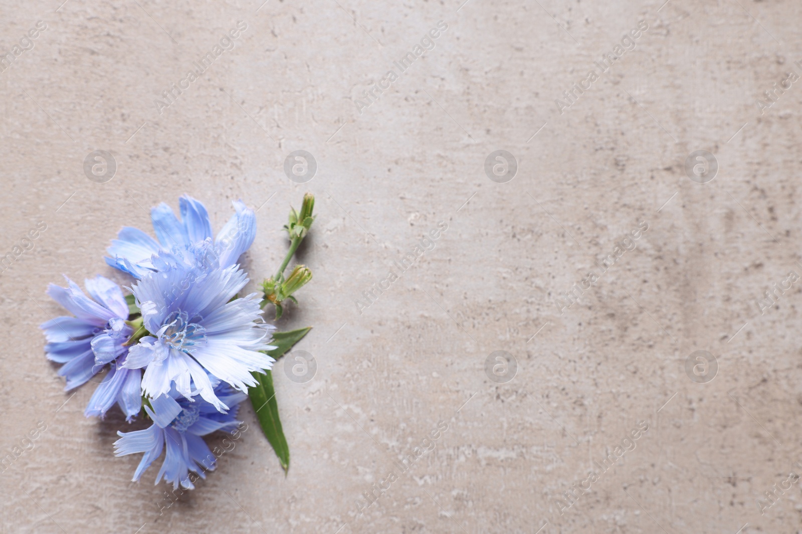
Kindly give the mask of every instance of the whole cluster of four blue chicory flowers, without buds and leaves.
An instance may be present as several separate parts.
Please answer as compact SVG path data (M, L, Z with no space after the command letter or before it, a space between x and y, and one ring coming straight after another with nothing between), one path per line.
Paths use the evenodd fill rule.
M115 454L144 453L133 480L166 447L156 476L192 488L189 472L205 477L215 456L201 436L233 431L238 405L256 385L251 374L273 364L266 355L273 326L261 317L261 293L238 297L249 279L238 259L253 243L256 215L241 202L213 238L204 205L184 196L180 219L167 204L151 211L156 239L124 227L106 263L135 279L132 297L96 276L81 288L51 284L47 293L74 316L43 323L47 358L62 363L67 390L107 374L86 416L115 404L131 422L144 409L153 424L118 432Z

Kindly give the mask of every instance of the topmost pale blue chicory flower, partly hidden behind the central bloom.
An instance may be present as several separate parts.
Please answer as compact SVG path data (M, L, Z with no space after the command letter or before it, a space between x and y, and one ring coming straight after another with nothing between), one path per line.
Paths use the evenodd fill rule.
M120 271L141 279L149 272L158 270L153 255L169 253L185 258L192 265L192 256L200 243L212 245L213 267L230 267L249 249L256 236L256 214L244 203L233 203L236 213L212 240L212 225L204 205L184 195L179 199L181 220L176 219L172 209L165 203L152 208L151 219L156 237L134 227L124 227L117 239L111 241L106 263ZM205 247L204 247L205 248Z

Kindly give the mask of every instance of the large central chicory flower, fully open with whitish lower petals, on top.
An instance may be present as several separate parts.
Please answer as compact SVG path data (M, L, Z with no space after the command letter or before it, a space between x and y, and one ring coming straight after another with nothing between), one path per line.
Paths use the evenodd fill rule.
M154 259L158 263L158 256ZM251 371L273 364L260 351L275 348L268 344L275 327L261 319L260 294L233 299L248 283L237 266L205 270L179 262L162 268L132 287L151 335L129 349L122 367L144 367L142 391L152 399L175 387L188 399L201 395L223 412L228 407L206 371L247 391L257 383Z

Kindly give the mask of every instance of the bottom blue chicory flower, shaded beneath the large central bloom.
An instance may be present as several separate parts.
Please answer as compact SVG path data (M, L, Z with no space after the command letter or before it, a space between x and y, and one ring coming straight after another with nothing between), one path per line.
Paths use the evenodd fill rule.
M213 376L209 379L215 380ZM145 406L145 411L153 420L149 428L136 432L117 432L120 438L114 443L115 456L144 452L134 472L135 482L161 455L165 445L167 452L156 475L156 484L164 477L174 489L178 488L178 484L184 489L192 489L194 485L189 477L190 471L205 479L205 471L214 470L217 458L201 436L237 427L240 424L237 421L239 404L248 398L244 393L231 390L225 383L218 382L214 391L217 398L231 406L229 412L217 412L217 408L205 400L193 402L181 398L173 388L167 394L151 399L152 409Z

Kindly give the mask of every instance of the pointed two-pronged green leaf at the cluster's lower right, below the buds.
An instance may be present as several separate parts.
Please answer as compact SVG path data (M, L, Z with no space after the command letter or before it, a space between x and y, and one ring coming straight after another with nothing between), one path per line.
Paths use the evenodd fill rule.
M275 345L276 348L265 351L265 354L272 356L274 359L281 358L311 329L312 327L306 327L287 332L274 332L273 341L270 343ZM276 452L278 461L281 462L282 468L286 473L290 470L290 447L284 437L282 421L278 418L276 390L273 388L273 373L265 371L265 374L262 375L254 372L253 378L257 380L257 385L249 388L248 396L259 420L261 431L265 433L265 437L270 442L270 445L273 446L273 451Z

